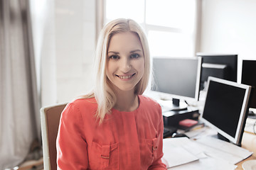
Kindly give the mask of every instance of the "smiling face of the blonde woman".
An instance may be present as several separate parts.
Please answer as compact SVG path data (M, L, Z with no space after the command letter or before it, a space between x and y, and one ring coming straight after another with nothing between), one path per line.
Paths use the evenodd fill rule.
M142 44L135 33L117 33L107 50L107 78L115 90L134 91L144 74Z

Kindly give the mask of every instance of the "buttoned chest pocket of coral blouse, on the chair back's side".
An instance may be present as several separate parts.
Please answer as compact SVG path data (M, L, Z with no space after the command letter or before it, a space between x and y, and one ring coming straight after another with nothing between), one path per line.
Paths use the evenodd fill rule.
M90 169L118 169L119 148L118 143L113 145L100 145L92 142L88 150Z

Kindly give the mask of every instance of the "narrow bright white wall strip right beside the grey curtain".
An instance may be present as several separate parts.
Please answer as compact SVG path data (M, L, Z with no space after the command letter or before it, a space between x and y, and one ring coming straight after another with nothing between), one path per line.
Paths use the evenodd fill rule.
M38 95L43 106L55 103L55 2L30 1Z

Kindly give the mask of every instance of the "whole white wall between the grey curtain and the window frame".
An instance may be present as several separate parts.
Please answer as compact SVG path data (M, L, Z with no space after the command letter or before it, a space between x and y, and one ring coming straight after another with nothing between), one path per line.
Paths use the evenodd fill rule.
M95 1L31 1L31 18L42 106L72 101L90 91Z

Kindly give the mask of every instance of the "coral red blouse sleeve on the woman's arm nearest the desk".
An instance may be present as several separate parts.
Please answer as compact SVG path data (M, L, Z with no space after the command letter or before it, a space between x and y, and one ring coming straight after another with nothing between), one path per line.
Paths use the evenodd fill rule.
M159 106L159 105L158 105ZM161 106L159 106L159 129L158 129L158 135L157 140L159 140L159 146L156 149L156 159L154 162L149 166L149 169L154 170L163 170L166 169L166 165L161 162L161 157L163 157L163 135L164 135L164 121L163 116L161 113Z

